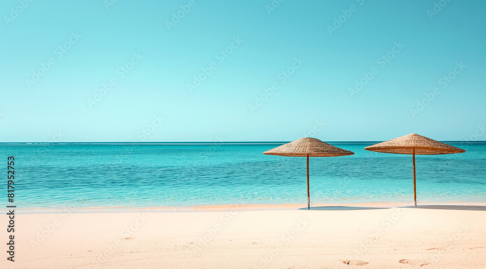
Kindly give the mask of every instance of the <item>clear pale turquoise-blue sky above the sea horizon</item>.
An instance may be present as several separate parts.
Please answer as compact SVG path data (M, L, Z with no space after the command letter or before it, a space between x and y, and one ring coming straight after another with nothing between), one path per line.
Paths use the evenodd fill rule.
M486 1L25 2L0 142L486 140Z

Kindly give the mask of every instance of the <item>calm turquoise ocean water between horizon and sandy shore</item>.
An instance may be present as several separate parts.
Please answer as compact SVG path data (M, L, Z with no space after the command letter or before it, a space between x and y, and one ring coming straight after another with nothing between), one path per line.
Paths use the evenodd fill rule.
M15 157L14 204L26 210L304 206L306 158L262 154L281 144L0 144L0 170L6 183ZM413 204L411 155L330 144L355 154L310 158L311 202ZM486 202L486 143L449 144L467 152L416 156L417 203Z

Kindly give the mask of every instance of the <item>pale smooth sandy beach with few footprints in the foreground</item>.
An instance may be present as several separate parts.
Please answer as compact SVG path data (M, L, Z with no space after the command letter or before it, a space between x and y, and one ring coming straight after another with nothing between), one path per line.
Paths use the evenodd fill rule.
M485 268L486 206L18 214L1 268ZM1 223L8 217L2 215ZM4 229L1 238L6 238Z

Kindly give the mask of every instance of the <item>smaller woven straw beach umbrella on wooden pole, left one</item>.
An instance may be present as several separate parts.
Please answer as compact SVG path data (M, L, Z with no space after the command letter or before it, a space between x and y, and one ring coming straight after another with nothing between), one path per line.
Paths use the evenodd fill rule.
M311 198L309 195L309 157L334 157L353 155L354 152L346 151L319 139L304 137L293 142L283 144L275 149L263 152L268 155L280 156L307 156L307 208L311 209Z

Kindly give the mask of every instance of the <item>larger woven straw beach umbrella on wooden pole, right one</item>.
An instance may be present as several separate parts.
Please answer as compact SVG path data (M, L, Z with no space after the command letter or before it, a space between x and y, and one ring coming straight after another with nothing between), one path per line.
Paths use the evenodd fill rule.
M412 160L414 163L415 206L417 206L417 188L415 185L415 155L437 155L466 152L465 150L461 150L451 145L447 145L418 134L407 134L392 140L366 147L364 149L367 151L384 153L412 154Z

